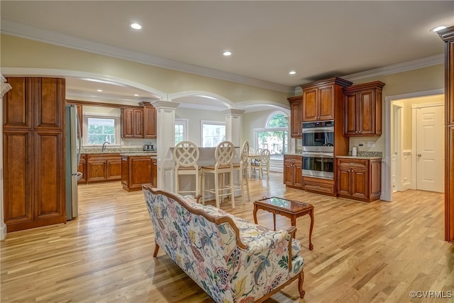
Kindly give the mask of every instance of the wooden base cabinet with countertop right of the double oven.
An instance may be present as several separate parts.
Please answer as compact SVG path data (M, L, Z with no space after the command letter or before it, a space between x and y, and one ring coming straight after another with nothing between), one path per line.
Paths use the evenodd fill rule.
M372 202L380 199L381 159L337 158L338 197Z

